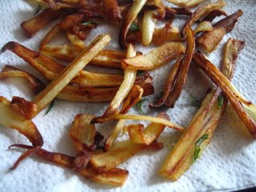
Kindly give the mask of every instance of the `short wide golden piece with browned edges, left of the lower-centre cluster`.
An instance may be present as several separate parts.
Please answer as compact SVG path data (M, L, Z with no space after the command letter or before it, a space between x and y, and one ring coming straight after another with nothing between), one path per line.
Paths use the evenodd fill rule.
M95 148L96 128L94 124L90 124L92 118L94 118L94 115L90 114L78 114L74 117L70 129L70 138L73 140L78 153L94 150Z

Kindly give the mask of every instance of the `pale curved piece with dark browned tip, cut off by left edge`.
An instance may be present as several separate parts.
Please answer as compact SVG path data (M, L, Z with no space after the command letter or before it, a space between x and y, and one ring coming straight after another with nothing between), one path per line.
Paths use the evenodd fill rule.
M34 122L18 114L10 106L10 101L4 97L0 97L0 111L0 123L2 125L18 130L19 133L29 139L33 146L42 146L42 136Z

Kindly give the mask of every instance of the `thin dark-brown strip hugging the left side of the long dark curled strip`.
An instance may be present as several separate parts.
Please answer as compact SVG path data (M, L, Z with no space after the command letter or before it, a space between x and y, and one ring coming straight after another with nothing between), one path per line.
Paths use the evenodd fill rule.
M163 90L162 98L159 98L156 103L151 103L150 109L159 108L166 103L166 99L168 98L171 91L173 90L174 84L176 82L176 78L178 77L178 71L182 64L182 58L183 58L183 55L181 55L175 62L174 66L172 66L169 77L166 80L166 85Z

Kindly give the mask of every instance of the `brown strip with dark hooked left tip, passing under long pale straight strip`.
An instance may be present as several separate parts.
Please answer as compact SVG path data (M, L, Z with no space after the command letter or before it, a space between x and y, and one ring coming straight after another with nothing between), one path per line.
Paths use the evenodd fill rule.
M38 70L48 80L53 80L64 68L62 64L53 59L39 54L33 50L18 44L18 42L8 42L2 50L10 50L24 59L26 62ZM79 51L80 53L80 51ZM119 64L120 65L120 64ZM80 73L70 82L80 87L106 87L121 85L123 76L119 74L99 74L81 70Z

